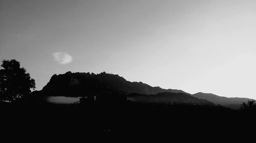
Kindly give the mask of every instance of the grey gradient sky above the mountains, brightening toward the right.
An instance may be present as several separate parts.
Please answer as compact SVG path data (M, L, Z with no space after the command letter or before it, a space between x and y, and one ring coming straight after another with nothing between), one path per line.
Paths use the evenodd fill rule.
M0 60L41 90L53 74L114 73L190 94L256 99L256 1L0 0Z

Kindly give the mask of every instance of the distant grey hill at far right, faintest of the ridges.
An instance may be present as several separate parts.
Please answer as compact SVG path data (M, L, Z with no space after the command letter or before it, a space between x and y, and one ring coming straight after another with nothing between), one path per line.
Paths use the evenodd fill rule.
M248 100L254 100L254 99L249 99L249 98L238 98L238 97L222 97L214 94L209 94L209 93L196 93L191 96L194 96L199 99L205 99L210 102L214 102L215 104L220 104L222 106L232 108L232 109L239 109L241 104L243 102L247 102Z

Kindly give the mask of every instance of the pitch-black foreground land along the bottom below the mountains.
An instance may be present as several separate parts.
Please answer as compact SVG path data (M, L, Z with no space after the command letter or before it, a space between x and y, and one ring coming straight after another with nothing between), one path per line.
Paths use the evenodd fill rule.
M0 108L4 134L42 138L247 138L245 135L254 133L256 121L254 112L221 106L129 102L115 105L7 104Z

